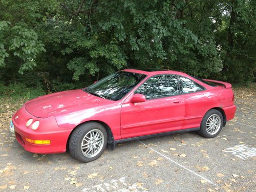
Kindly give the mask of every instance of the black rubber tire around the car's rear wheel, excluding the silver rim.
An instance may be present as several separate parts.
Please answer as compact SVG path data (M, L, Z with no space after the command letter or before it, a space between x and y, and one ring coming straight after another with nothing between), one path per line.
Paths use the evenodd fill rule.
M219 116L220 117L220 127L219 127L219 130L214 133L214 134L210 134L207 130L206 130L206 123L207 123L207 120L209 117L211 117L212 115L217 115L217 117ZM205 138L214 138L216 137L217 135L219 135L219 133L221 132L221 129L223 127L223 116L222 116L222 113L219 112L218 110L209 110L203 117L202 121L201 121L201 126L200 126L200 130L198 131L199 134L202 136L202 137L205 137Z

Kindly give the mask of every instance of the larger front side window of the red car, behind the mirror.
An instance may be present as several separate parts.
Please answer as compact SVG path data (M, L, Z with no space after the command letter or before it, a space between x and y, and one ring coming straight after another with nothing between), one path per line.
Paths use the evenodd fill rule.
M146 99L178 95L178 79L176 75L159 75L144 82L135 93L145 95Z

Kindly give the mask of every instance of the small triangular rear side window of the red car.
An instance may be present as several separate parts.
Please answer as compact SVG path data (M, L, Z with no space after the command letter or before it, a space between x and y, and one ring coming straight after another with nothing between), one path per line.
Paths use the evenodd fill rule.
M200 84L186 77L179 76L179 83L180 83L180 94L193 93L193 92L204 90L204 88L200 86Z

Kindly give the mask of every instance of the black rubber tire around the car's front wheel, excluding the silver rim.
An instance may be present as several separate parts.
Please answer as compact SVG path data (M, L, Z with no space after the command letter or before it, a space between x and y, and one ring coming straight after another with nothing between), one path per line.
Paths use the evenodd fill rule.
M96 156L93 157L86 157L84 155L84 153L82 152L82 142L84 137L91 131L98 131L100 133L103 134L103 138L102 139L102 148L101 150L98 150L99 152L97 153ZM90 140L91 141L91 140ZM103 151L106 148L106 144L108 142L108 134L105 130L105 127L102 124L99 124L97 122L89 122L89 123L84 123L79 125L78 127L76 127L75 131L72 133L70 140L69 140L69 151L70 154L73 158L77 159L78 161L81 162L90 162L90 161L94 161L96 159L98 159L101 154L103 153ZM86 149L84 149L84 151L86 151Z

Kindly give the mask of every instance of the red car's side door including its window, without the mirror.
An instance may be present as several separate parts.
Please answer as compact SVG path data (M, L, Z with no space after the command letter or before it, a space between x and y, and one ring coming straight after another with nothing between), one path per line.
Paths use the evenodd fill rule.
M122 104L122 139L181 129L185 103L179 96L176 75L153 76L134 92L136 93L145 95L146 101L132 103L132 97L129 97Z

